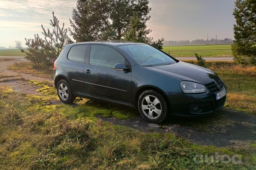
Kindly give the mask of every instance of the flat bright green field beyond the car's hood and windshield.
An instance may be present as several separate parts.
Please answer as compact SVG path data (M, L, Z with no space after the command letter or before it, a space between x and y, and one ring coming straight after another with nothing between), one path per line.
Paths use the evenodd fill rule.
M163 46L163 51L174 57L194 57L194 53L203 57L232 57L231 44Z

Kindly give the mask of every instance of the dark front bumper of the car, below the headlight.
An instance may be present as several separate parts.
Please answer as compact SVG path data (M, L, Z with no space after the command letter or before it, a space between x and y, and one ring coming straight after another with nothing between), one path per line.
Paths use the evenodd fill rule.
M223 86L218 92L221 92L224 88L226 87ZM213 93L209 90L202 94L166 92L166 95L172 115L198 116L212 113L224 106L226 96L216 101L215 96L218 92Z

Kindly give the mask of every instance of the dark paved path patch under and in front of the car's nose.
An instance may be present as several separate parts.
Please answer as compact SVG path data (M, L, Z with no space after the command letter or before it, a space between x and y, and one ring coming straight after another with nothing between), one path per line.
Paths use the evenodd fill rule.
M256 140L256 117L229 108L199 118L169 118L163 124L147 123L139 115L129 120L101 119L143 132L172 132L202 145L241 148L250 146Z

